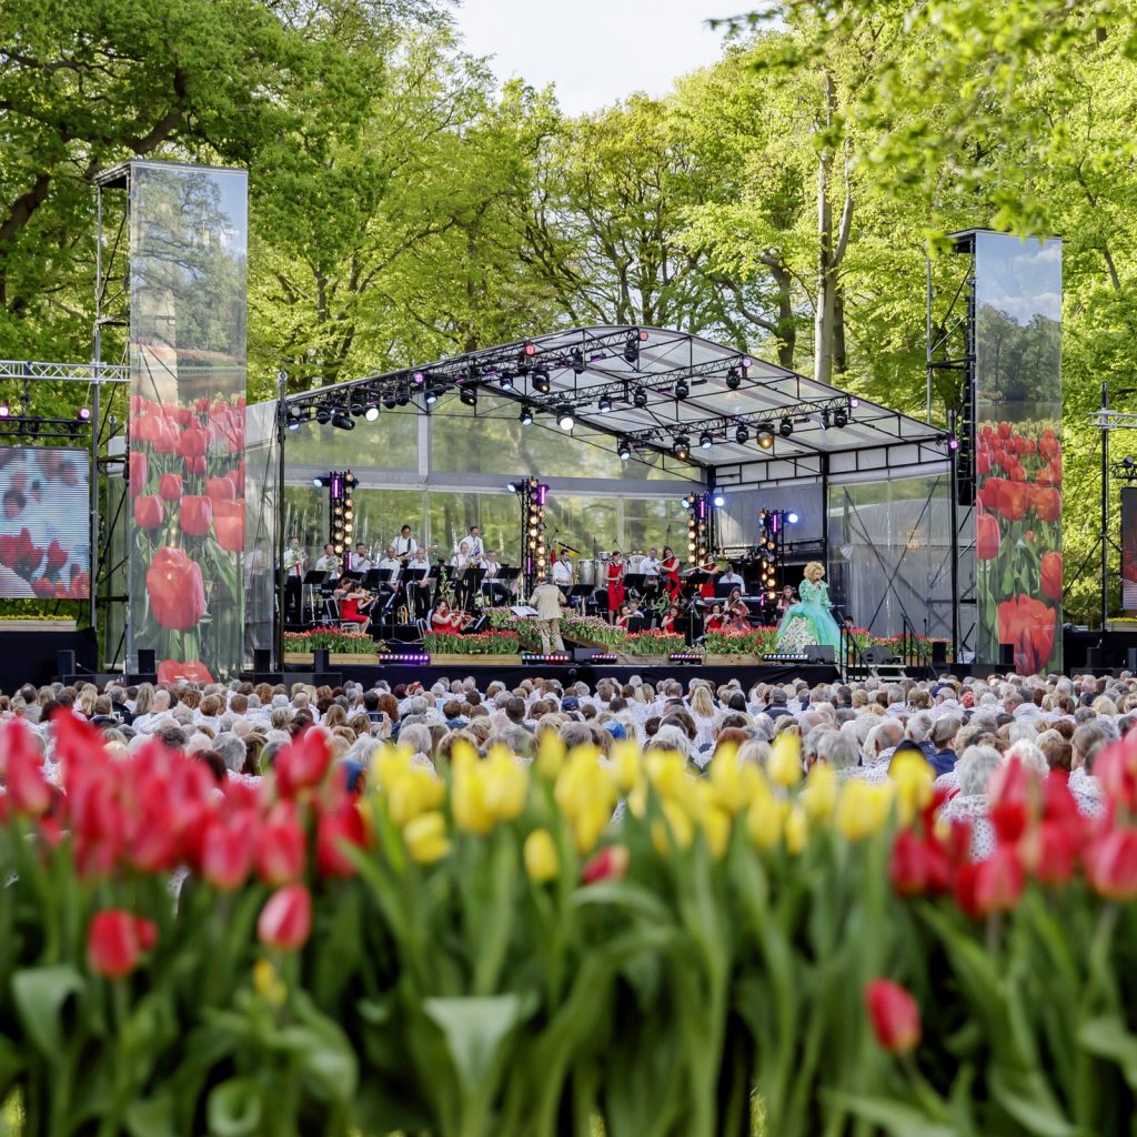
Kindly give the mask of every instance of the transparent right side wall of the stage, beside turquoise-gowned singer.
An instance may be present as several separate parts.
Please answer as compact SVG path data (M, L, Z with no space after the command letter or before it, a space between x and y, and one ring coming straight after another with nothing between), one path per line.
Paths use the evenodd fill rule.
M947 473L829 487L829 592L861 628L952 638Z

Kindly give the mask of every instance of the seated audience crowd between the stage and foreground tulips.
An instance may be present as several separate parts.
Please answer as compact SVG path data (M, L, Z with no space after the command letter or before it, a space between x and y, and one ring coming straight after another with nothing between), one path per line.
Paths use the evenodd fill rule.
M1103 811L1094 760L1137 724L1137 678L1018 675L946 677L933 682L823 683L802 680L720 687L699 678L658 686L632 677L562 684L533 678L515 688L473 679L371 689L142 683L138 687L31 684L0 695L0 717L22 719L57 781L51 721L74 714L97 725L111 755L125 756L152 738L206 763L218 783L256 782L276 750L306 729L327 732L348 785L359 787L376 744L398 741L415 761L440 770L465 739L479 753L504 746L518 761L533 757L555 731L568 747L595 745L604 755L620 740L682 754L692 774L715 755L764 765L785 731L800 739L803 763L828 763L843 779L879 782L895 755L920 753L946 791L941 815L972 822L972 854L989 852L988 791L1010 756L1039 777L1068 779L1087 815ZM0 767L2 781L2 767ZM2 787L0 787L2 791Z

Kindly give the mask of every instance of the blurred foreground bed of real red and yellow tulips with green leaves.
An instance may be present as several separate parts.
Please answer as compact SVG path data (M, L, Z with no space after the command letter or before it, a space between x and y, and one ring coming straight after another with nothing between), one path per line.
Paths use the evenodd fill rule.
M1114 1135L1137 1087L1137 748L1107 816L1016 763L995 853L922 762L532 767L318 731L217 790L70 715L0 735L0 1087L27 1135ZM611 820L620 800L624 807Z

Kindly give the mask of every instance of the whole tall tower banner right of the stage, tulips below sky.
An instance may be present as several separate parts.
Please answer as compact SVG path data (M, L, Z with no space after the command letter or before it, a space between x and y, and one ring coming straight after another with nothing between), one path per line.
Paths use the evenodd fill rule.
M1062 663L1061 257L977 235L978 658L1022 673Z

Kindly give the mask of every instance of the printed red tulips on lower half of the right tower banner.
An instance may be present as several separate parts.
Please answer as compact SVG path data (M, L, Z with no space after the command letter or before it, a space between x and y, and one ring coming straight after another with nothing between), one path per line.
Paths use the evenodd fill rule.
M1010 644L1021 673L1062 650L1062 443L1030 423L982 426L976 439L976 563L982 642Z

